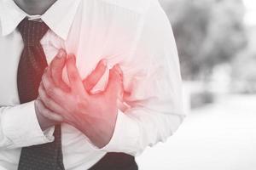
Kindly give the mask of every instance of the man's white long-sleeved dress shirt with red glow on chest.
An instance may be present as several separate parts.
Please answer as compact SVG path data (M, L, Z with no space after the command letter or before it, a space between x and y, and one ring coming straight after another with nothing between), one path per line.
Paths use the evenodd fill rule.
M16 77L23 41L16 28L26 16L13 0L0 0L1 170L17 169L21 147L54 140L54 127L41 131L34 102L19 101ZM157 0L58 0L43 15L29 17L50 28L41 40L48 63L64 48L77 56L82 78L100 59L108 59L109 68L119 63L124 71L130 107L119 111L109 144L98 149L83 133L62 124L66 169L87 169L107 152L136 156L165 141L183 122L177 48ZM107 82L108 71L93 90L103 90Z

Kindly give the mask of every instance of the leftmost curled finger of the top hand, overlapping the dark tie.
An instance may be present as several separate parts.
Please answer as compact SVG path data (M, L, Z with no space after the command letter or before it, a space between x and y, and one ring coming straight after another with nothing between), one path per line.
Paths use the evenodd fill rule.
M55 100L55 102L58 103L59 105L65 104L68 98L68 95L65 92L63 92L60 88L57 88L55 86L55 83L53 82L50 76L49 69L46 69L44 71L44 75L42 77L42 83L44 85L46 94L48 94L51 99Z

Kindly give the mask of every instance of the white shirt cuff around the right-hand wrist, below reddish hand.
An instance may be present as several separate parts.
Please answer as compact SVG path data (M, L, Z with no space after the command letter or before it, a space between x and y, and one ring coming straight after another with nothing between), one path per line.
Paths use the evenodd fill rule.
M113 136L109 143L99 149L93 145L94 150L107 152L124 152L130 154L137 146L139 138L139 126L130 116L125 115L122 111L118 112L116 125Z

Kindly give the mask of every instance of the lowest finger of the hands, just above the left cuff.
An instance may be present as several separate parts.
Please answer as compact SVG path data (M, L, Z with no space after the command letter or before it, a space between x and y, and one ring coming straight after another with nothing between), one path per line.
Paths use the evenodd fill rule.
M42 114L44 117L48 118L49 120L55 121L55 122L63 122L63 117L60 115L55 114L53 111L50 111L45 107L42 101L36 100L35 101L36 109Z

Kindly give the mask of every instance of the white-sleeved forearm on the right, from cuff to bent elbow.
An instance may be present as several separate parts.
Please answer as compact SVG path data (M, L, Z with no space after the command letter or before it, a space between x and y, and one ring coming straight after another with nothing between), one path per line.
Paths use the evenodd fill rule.
M139 155L147 146L165 141L175 133L183 118L182 114L146 111L142 108L125 113L119 111L113 137L100 150Z

